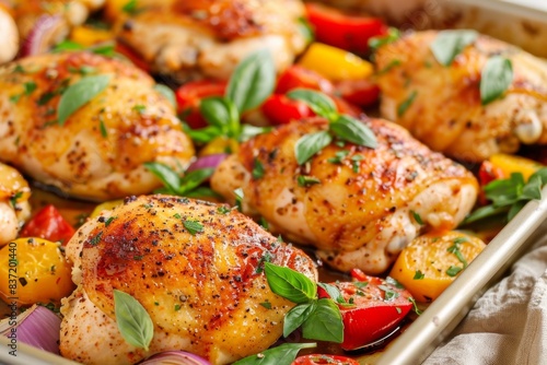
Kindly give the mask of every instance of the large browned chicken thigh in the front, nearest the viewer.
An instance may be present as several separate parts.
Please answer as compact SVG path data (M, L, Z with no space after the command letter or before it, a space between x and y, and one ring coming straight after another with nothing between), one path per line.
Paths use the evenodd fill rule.
M274 344L294 304L275 295L257 269L269 260L315 281L315 266L247 216L219 207L170 196L133 197L85 223L67 245L79 286L63 299L61 354L114 365L184 350L226 364ZM202 229L190 233L188 221ZM132 295L151 316L148 353L121 338L113 290Z

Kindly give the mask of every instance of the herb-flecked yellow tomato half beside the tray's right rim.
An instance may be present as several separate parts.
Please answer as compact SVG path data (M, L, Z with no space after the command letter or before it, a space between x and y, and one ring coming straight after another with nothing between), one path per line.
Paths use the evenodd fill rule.
M485 247L479 238L463 232L430 233L415 238L403 249L389 276L400 282L416 301L431 302Z

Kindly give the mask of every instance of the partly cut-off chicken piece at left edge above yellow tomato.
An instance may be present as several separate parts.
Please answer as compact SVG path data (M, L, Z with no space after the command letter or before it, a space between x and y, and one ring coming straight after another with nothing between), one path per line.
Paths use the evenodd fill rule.
M15 239L31 216L31 188L13 167L0 163L0 247Z

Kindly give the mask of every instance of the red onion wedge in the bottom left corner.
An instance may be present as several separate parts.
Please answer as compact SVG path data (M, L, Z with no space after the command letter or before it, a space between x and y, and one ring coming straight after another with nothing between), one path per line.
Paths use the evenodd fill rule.
M21 341L54 354L59 354L61 319L44 306L34 305L19 316L0 321L0 333L13 341Z

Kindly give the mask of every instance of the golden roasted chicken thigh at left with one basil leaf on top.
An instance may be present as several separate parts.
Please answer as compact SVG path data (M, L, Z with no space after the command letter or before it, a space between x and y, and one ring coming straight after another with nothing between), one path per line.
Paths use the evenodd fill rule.
M60 94L84 73L109 75L108 85L61 126ZM150 192L161 182L144 162L175 167L194 156L174 106L153 86L132 64L88 52L10 63L0 69L0 161L79 198Z

